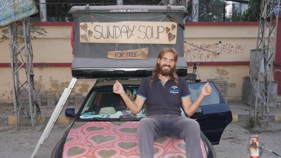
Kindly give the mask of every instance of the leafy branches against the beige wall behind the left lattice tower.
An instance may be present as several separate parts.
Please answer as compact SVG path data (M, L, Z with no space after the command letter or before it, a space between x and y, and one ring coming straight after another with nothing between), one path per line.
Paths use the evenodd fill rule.
M47 33L45 28L41 28L40 26L37 25L31 25L30 26L30 38L33 39L38 39L36 36L33 36L33 34L35 35L43 35L46 36L45 34ZM0 36L0 43L9 40L9 29L8 28L1 28L1 36ZM17 40L18 40L18 44L23 43L23 30L22 29L17 29Z

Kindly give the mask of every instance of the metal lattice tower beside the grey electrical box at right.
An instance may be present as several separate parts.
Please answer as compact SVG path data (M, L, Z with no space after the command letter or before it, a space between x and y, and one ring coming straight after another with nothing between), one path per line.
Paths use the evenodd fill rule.
M277 2L277 3L276 3ZM280 0L262 0L260 6L259 31L257 37L256 55L254 61L254 76L252 82L252 100L250 117L254 114L254 126L257 125L258 112L268 121L269 90L273 76L273 54L276 52L276 32ZM275 22L273 22L275 20ZM268 31L268 34L267 34ZM256 79L257 78L257 79ZM252 108L254 107L254 111ZM264 118L265 108L266 118Z

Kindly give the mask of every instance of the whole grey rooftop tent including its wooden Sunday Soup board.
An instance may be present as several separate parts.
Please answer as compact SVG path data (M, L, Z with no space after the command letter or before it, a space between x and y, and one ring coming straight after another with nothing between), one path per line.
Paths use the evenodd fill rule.
M183 18L187 13L184 6L74 6L69 13L74 20L74 59L71 66L73 77L150 76L159 52L165 47L173 47L177 50L179 54L177 74L179 76L187 75L187 64L183 57ZM175 22L172 21L173 19ZM179 22L180 25L176 22ZM120 25L120 23L124 23L124 25ZM151 26L148 26L150 24ZM161 24L165 25L160 26ZM121 28L122 33L120 31L117 33L117 26L119 28L124 26L124 29ZM118 38L116 33L119 34ZM120 34L123 37L121 35L120 38ZM142 40L138 40L137 36ZM161 40L166 41L158 42L160 36ZM143 39L144 37L147 40ZM171 39L172 41L170 41ZM132 52L144 48L148 49L145 59L116 57L116 51L130 50ZM110 51L115 51L116 58L108 57Z

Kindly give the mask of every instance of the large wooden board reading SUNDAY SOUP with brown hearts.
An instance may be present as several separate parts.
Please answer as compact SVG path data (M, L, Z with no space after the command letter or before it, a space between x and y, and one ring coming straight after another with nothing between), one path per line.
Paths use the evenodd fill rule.
M176 44L174 22L81 22L83 43Z

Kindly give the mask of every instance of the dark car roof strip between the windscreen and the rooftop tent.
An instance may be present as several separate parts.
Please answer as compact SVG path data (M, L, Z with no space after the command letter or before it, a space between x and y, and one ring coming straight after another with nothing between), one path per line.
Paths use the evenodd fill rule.
M115 79L99 81L94 85L94 87L111 87L114 85L115 81ZM117 81L119 81L123 86L139 86L141 79L117 79Z

